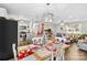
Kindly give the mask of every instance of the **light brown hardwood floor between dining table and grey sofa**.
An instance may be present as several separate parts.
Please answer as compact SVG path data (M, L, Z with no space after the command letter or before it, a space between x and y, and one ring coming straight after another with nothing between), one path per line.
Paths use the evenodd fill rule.
M66 50L65 61L87 61L87 52L79 51L76 43Z

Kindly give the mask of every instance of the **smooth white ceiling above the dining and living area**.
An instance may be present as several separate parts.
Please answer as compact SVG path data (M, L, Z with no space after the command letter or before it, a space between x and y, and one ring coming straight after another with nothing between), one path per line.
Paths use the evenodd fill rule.
M9 14L23 15L28 18L42 19L45 12L54 13L55 20L87 20L86 3L0 3L0 8L6 8Z

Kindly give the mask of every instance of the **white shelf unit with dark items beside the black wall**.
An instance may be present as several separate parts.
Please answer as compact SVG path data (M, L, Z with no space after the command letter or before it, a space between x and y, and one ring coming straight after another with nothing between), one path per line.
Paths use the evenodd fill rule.
M18 23L18 41L28 41L30 33L30 23L26 20L20 20Z

